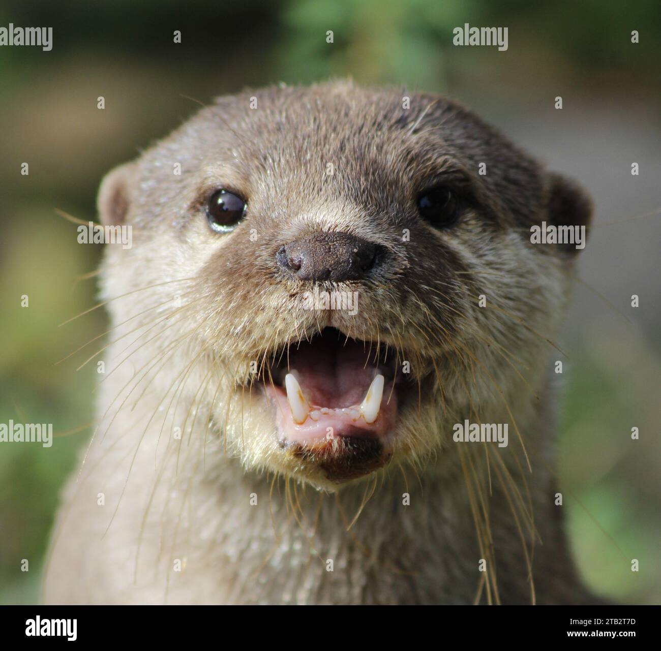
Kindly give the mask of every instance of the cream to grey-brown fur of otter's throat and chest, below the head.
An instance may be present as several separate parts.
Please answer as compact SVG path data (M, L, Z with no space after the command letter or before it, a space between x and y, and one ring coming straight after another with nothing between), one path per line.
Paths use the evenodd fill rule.
M120 367L104 385L102 412L117 395L122 402L132 373ZM551 455L539 442L552 418L529 396L511 404L532 473L522 470L521 454L479 446L457 459L450 448L417 470L390 468L325 494L247 473L202 414L195 418L192 402L177 401L174 391L161 401L162 389L155 381L135 409L128 399L98 428L67 488L46 602L533 603L540 589L542 603L586 599L568 580L570 561L552 525ZM171 401L178 402L171 415L147 425L157 402ZM502 407L489 412L507 417ZM173 423L187 417L173 438ZM510 474L512 482L504 479ZM480 550L471 500L488 510L478 527L496 556ZM512 510L510 500L525 506ZM522 540L513 535L517 526ZM533 549L536 585L525 564ZM497 578L480 571L481 559L496 563Z

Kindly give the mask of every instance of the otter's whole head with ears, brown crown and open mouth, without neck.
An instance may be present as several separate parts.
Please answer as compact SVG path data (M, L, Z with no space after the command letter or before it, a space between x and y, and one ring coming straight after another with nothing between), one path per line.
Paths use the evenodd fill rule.
M346 83L220 98L99 208L135 228L106 296L153 286L182 395L250 469L327 490L442 466L454 423L539 385L572 254L530 227L590 215L461 106Z

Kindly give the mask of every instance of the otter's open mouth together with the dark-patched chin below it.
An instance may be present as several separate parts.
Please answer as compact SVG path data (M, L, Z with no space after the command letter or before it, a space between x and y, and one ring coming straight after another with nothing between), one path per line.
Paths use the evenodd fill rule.
M386 465L403 391L394 354L332 328L285 352L286 364L264 382L282 452L333 484Z

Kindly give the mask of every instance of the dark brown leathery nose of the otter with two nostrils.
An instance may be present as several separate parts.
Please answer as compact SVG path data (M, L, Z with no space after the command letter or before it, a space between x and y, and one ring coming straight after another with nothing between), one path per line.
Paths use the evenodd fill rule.
M278 264L299 280L360 280L381 247L348 233L314 233L280 247Z

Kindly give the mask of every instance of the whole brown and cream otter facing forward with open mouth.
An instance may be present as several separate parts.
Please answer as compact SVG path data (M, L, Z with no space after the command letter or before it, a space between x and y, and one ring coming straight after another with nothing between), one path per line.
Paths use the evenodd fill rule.
M110 172L133 244L45 601L596 601L553 475L577 250L530 235L591 213L459 103L350 81L223 96Z

